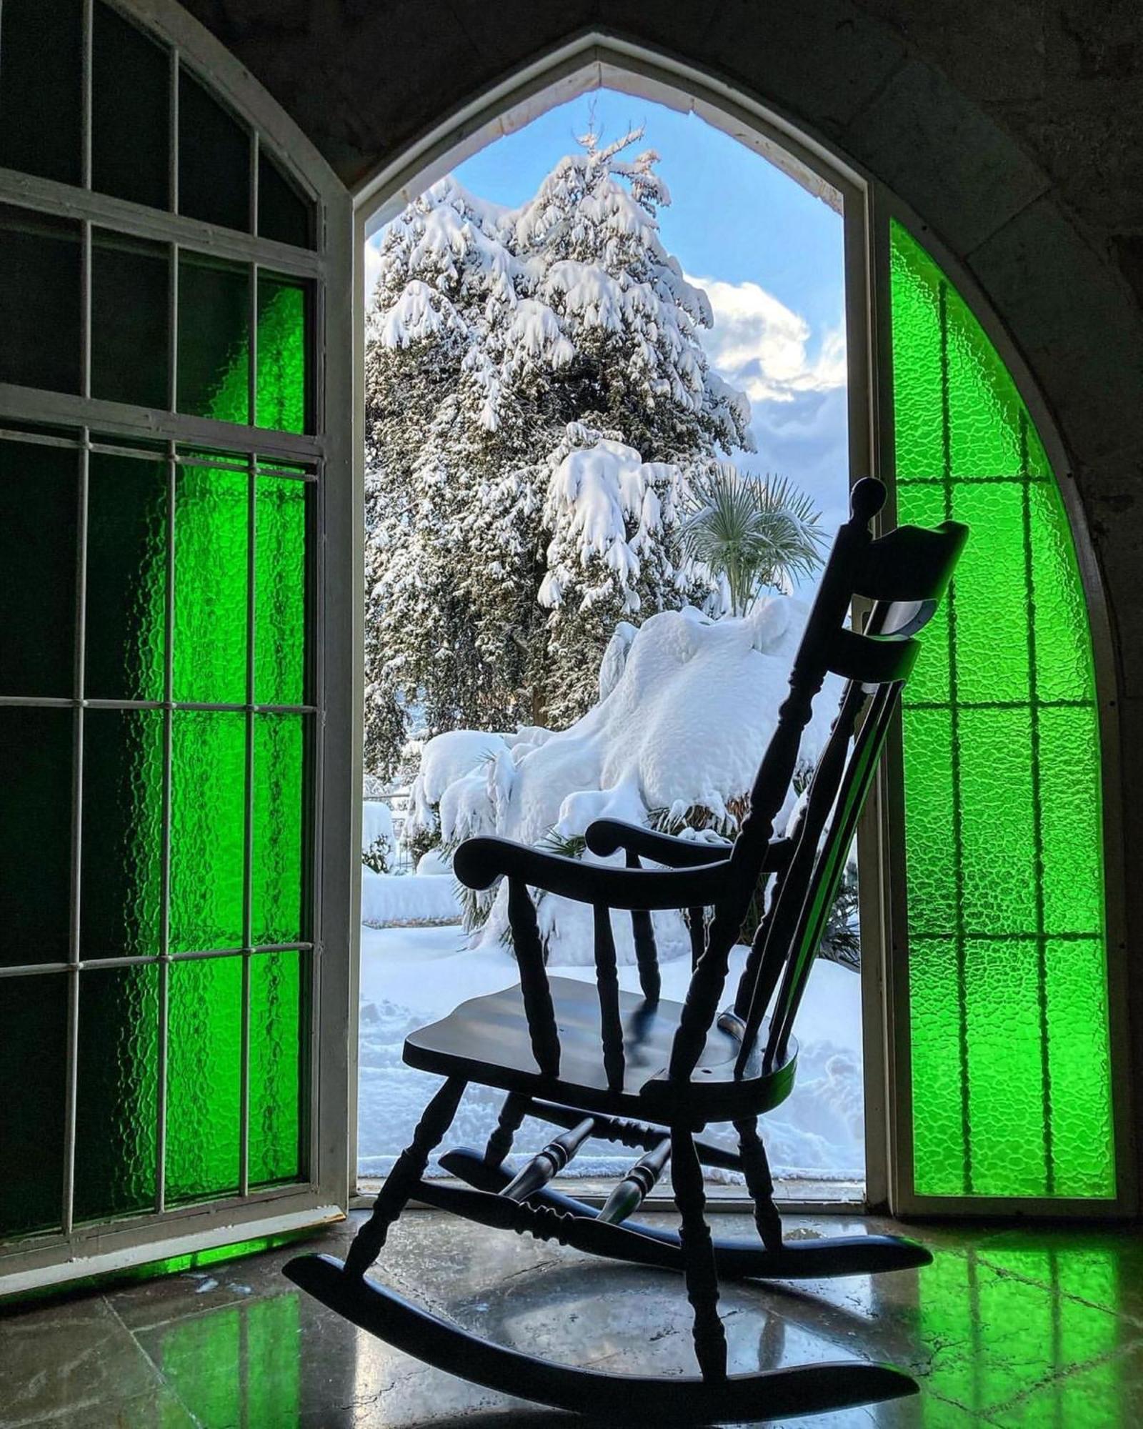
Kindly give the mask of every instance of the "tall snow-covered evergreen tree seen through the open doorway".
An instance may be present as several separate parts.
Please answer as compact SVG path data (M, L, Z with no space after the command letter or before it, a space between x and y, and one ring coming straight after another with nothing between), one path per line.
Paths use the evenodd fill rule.
M607 622L630 602L617 570L606 600L587 567L569 580L576 517L551 483L570 423L636 466L749 444L749 403L699 340L710 304L659 237L659 156L627 157L640 137L587 134L519 210L444 179L386 230L366 372L370 769L393 766L401 702L430 732L563 722L590 703ZM647 552L632 587L644 613L690 594L660 559L680 479L646 477L660 529L640 506L616 532ZM540 604L549 559L561 594Z

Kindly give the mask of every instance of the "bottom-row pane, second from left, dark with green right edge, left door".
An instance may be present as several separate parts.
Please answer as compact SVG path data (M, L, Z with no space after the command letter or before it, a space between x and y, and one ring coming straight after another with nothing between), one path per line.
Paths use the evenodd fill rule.
M76 1219L153 1210L159 1142L159 967L80 975Z

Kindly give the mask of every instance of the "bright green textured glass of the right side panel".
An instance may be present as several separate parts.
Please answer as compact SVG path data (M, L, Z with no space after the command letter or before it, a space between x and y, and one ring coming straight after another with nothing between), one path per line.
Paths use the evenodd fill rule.
M890 249L899 517L972 526L906 692L914 1187L1106 1198L1099 729L1074 546L994 347L896 223Z

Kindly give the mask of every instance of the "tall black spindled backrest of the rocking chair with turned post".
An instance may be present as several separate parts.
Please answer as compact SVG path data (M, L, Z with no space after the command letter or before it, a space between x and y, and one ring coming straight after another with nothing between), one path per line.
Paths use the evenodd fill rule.
M720 1019L742 1037L740 1072L757 1063L759 1050L763 1070L784 1056L857 817L900 690L920 653L913 636L936 612L969 534L966 526L944 522L937 530L902 526L874 540L869 522L884 496L884 486L873 479L853 487L850 519L826 563L790 672L790 693L730 852L730 892L713 910L706 947L692 975L672 1049L672 1077L690 1077L702 1055L723 995L730 949L739 940L797 767L813 700L826 674L833 673L846 680L837 717L790 832L787 859L774 876L733 1012ZM873 602L863 632L846 626L854 596ZM767 1010L766 1045L756 1049Z

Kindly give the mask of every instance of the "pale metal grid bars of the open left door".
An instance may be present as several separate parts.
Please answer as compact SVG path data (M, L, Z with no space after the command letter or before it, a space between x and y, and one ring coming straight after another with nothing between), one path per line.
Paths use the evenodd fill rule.
M113 6L133 23L141 21L127 6ZM19 1236L9 1243L0 1243L0 1270L7 1263L9 1252L44 1248L51 1243L77 1245L93 1226L77 1226L76 1203L76 1106L79 1073L79 990L80 975L89 969L130 967L154 965L159 969L159 1040L157 1040L157 1147L154 1209L151 1213L127 1218L130 1228L146 1230L154 1226L156 1233L147 1239L159 1240L160 1228L186 1216L187 1206L166 1205L166 1082L169 1052L169 969L176 962L191 962L217 957L239 957L241 960L241 1050L240 1050L240 1173L237 1195L221 1193L210 1198L210 1208L217 1212L236 1212L240 1208L263 1208L281 1200L290 1203L290 1192L300 1189L310 1193L319 1190L319 1135L317 1135L317 996L320 976L320 943L313 936L320 916L321 862L319 849L320 807L323 792L323 739L317 729L317 714L321 703L323 654L320 650L324 619L324 577L321 567L321 542L317 539L324 522L323 474L329 454L329 443L321 434L300 434L256 427L257 410L257 327L259 327L259 274L261 270L303 280L311 289L310 312L313 320L306 332L306 364L309 393L306 410L319 419L324 397L324 347L317 340L320 323L324 320L326 303L323 286L330 263L326 254L326 213L311 186L297 176L297 169L279 147L266 143L276 154L281 167L294 176L307 201L317 209L317 247L297 249L273 239L257 237L257 173L259 153L264 143L257 121L239 119L249 134L250 161L250 231L239 233L219 229L213 224L181 216L177 206L179 173L179 74L181 69L194 73L207 89L219 94L219 86L211 76L197 69L179 43L171 26L159 27L154 36L166 43L170 57L170 204L169 210L149 209L141 204L99 193L91 187L91 34L94 23L94 0L83 4L83 91L81 91L81 183L71 186L39 179L16 170L0 169L0 199L34 213L60 214L79 220L80 224L80 384L77 393L60 393L29 389L11 383L0 383L0 440L23 442L54 447L69 447L77 459L77 590L74 632L74 684L71 697L0 696L0 706L57 707L73 710L73 777L71 777L71 849L69 890L69 946L66 962L20 963L0 969L0 986L11 977L66 975L67 979L67 1067L64 1083L64 1173L61 1195L61 1218L56 1230ZM149 17L150 20L151 17ZM141 23L149 29L147 23ZM226 103L226 100L223 100ZM130 237L151 239L163 243L169 254L169 390L167 409L156 410L127 403L91 399L91 252L93 229L110 230ZM210 417L179 413L177 406L177 357L179 357L179 259L180 253L226 259L243 264L249 280L249 424L219 422ZM199 450L199 449L204 450ZM87 559L87 484L89 466L93 453L117 457L131 457L144 462L166 463L166 593L164 593L164 650L163 650L163 697L159 700L114 700L89 699L84 684L84 652L87 644L86 610L86 559ZM217 470L244 472L247 477L247 593L246 593L246 697L243 703L209 703L173 699L173 652L174 652L174 540L176 540L176 483L183 466L206 466ZM256 679L256 510L257 479L273 476L279 480L297 480L313 487L311 500L306 503L306 587L304 606L306 667L304 690L314 692L316 703L267 704L254 699ZM80 907L83 896L81 867L81 819L83 819L83 753L84 719L89 709L109 710L161 710L163 712L163 779L161 779L161 873L160 873L160 942L153 955L126 955L113 957L84 957L80 945ZM170 949L170 863L171 863L171 760L173 760L173 717L181 710L234 712L244 717L244 815L243 815L243 913L241 946L227 949L200 949L193 952L171 952ZM261 714L296 714L303 720L303 933L309 936L299 942L256 946L253 943L253 766L256 717ZM250 970L254 957L271 953L296 952L299 957L310 955L301 969L300 1029L301 1057L300 1072L303 1087L309 1083L309 1117L303 1119L303 1166L297 1185L286 1187L250 1186ZM309 972L307 972L309 969ZM309 982L309 987L306 983ZM304 1100L304 1099L303 1099ZM314 1198L310 1195L310 1202ZM199 1206L201 1210L201 1206ZM329 1208L324 1208L329 1209ZM234 1220L231 1215L229 1218ZM101 1229L107 1229L106 1226ZM134 1233L130 1232L130 1233ZM233 1239L233 1235L231 1235ZM26 1256L23 1259L27 1259ZM17 1255L16 1263L20 1263Z

